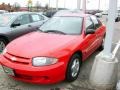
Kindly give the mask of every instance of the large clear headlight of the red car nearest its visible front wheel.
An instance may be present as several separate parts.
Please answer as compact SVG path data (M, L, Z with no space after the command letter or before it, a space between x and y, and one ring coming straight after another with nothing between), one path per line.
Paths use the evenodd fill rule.
M57 63L58 59L48 57L35 57L32 60L33 66L46 66Z

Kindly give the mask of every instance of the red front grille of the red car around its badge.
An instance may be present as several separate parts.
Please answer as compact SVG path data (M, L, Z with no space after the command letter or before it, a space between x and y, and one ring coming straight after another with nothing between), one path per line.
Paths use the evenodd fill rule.
M24 57L20 57L20 56L15 56L15 55L12 55L12 54L9 54L9 53L6 53L4 55L4 57L13 62L13 63L20 63L20 64L29 64L30 62L30 58L24 58ZM16 60L12 60L12 58L15 58Z

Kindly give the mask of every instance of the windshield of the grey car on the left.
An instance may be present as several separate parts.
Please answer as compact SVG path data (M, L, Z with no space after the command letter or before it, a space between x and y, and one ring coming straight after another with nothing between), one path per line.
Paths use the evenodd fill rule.
M1 14L0 15L0 26L7 26L9 22L15 17L15 15Z

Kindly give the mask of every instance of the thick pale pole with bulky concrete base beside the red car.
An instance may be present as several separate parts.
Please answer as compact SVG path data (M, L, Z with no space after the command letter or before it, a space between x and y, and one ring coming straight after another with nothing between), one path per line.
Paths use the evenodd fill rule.
M112 37L117 10L117 0L109 0L109 13L105 46L103 52L96 56L91 74L90 82L101 90L113 90L117 82L118 60L111 51Z

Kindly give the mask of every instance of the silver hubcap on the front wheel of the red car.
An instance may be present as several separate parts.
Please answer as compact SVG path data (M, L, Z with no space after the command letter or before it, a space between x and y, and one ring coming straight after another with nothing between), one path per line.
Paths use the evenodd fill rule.
M75 59L73 61L72 67L71 67L71 71L72 71L72 77L76 77L78 72L79 72L79 68L80 68L80 62L79 59Z

